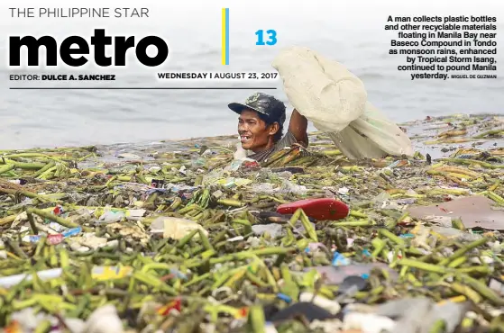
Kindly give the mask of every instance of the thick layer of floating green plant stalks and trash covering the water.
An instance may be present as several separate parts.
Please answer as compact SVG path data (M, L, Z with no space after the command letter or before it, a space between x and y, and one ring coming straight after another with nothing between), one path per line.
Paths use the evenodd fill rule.
M0 326L497 332L502 126L401 124L411 158L322 132L261 164L235 136L2 150Z

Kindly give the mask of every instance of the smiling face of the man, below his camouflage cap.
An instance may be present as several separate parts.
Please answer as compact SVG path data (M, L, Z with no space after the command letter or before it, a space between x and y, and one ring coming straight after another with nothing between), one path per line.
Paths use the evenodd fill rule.
M242 148L254 152L267 148L272 142L273 134L276 132L275 127L266 126L266 122L259 118L257 112L243 110L238 118L238 134L240 134Z

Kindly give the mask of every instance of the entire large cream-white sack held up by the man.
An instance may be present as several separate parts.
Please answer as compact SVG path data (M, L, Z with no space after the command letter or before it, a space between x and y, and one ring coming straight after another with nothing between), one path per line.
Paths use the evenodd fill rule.
M367 100L362 81L311 49L284 49L272 62L289 102L349 158L413 155L408 136Z

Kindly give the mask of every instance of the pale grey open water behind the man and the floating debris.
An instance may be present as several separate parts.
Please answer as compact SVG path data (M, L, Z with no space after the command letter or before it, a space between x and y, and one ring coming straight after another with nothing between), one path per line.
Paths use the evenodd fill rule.
M367 5L369 13L363 14L362 11L358 12L359 4L353 4L352 8L347 8L347 12L344 12L336 10L339 8L334 7L336 4L318 1L324 5L332 5L333 12L330 12L320 9L324 7L323 4L320 4L321 7L317 10L314 7L316 4L308 6L295 3L289 3L292 10L289 15L281 12L287 4L285 1L275 3L277 7L266 14L261 12L261 8L249 4L248 9L243 9L242 5L233 7L232 4L227 4L231 7L232 15L231 65L227 67L221 65L220 49L220 8L225 4L199 3L201 11L206 15L194 14L189 12L188 8L175 10L173 7L163 11L151 10L154 12L151 21L136 21L134 24L128 20L99 21L98 23L101 23L110 34L142 37L154 33L166 37L170 40L170 60L163 67L154 69L130 65L123 69L80 70L79 74L85 71L91 74L115 73L117 81L112 84L76 81L75 85L217 86L219 84L214 82L160 82L156 78L156 73L184 70L268 72L272 71L270 62L279 49L290 45L302 45L316 49L326 57L334 58L348 67L366 85L371 103L395 121L410 121L423 119L426 115L449 113L504 113L502 69L504 41L499 37L504 31L502 23L498 23L498 79L411 81L408 73L401 73L396 69L399 64L405 64L404 58L388 54L389 40L393 37L393 32L383 31L387 16L394 14L391 8L406 13L405 5L400 8L397 6L382 8L378 4L372 4L375 5L372 7L370 3ZM261 3L262 6L267 4L273 5L269 2ZM107 4L107 6L117 5ZM147 2L142 6L152 8L154 3ZM443 8L431 8L431 13L441 9ZM181 15L182 10L192 14ZM261 15L253 15L252 12ZM488 10L481 9L481 12L491 14ZM451 14L453 11L446 7L444 13ZM2 15L5 16L5 8ZM0 23L0 149L187 139L233 134L236 129L236 115L229 111L226 105L234 101L243 101L253 92L253 90L9 90L9 86L36 85L11 82L8 80L9 74L34 73L37 70L14 71L5 68L6 36L18 31L33 34L35 31L41 31L40 33L63 37L70 33L91 35L98 24L88 21L79 21L77 24L76 21L69 20L46 20L43 22L45 25L37 24L34 27L31 22L23 24L20 22ZM279 31L279 43L269 48L255 46L254 31L270 27ZM72 70L60 69L59 72L70 74ZM50 74L59 72L47 71ZM43 84L69 85L54 82ZM279 79L258 83L226 81L220 85L252 84L277 87L278 90L269 91L270 94L276 94L288 103Z

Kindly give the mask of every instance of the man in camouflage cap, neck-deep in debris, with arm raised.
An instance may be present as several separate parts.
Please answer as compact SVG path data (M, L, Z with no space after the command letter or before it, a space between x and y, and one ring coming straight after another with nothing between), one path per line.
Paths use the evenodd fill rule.
M242 148L252 150L249 158L263 162L275 152L293 144L308 146L307 118L297 110L292 112L285 136L285 104L270 94L255 93L245 103L230 103L229 108L240 114L238 133Z

